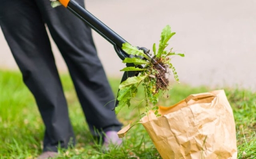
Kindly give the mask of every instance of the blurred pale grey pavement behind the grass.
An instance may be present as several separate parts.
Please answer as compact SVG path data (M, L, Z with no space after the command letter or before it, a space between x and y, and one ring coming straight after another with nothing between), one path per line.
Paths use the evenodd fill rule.
M126 41L152 48L169 24L176 35L169 48L185 54L173 63L182 83L239 86L256 90L256 1L247 0L88 0L87 9ZM108 76L125 67L113 46L93 33ZM2 33L0 67L17 69ZM53 45L57 66L67 71Z

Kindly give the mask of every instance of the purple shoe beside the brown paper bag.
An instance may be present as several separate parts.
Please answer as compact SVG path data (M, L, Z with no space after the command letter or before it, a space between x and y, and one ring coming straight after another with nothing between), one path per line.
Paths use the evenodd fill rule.
M110 149L109 146L111 144L115 146L120 146L122 144L122 139L118 138L117 131L106 131L103 141L102 148L106 151Z

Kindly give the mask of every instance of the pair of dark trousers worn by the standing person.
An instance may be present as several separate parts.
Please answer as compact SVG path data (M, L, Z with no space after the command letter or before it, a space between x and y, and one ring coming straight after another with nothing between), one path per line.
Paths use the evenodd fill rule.
M113 92L89 26L62 6L51 8L49 0L2 0L0 25L45 123L44 151L67 147L72 138L75 143L45 24L68 66L91 132L119 130L111 111Z

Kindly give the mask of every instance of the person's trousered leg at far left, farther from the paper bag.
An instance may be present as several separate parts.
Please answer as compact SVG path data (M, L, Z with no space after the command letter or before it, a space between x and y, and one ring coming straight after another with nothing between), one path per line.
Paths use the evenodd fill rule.
M45 24L35 1L3 0L0 25L46 126L44 151L67 147L74 134Z

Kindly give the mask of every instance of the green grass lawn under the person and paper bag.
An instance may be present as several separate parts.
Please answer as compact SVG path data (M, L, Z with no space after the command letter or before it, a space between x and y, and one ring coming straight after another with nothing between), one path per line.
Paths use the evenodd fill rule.
M84 120L69 75L62 74L61 81L70 109L70 118L76 134L77 145L61 150L60 158L161 158L142 125L133 127L120 148L112 147L103 153ZM120 79L110 79L117 93ZM22 82L19 72L0 71L0 158L35 158L42 151L44 125L34 98ZM216 88L218 89L218 88ZM170 97L160 104L171 105L189 94L208 92L207 87L174 86ZM237 88L225 89L236 121L238 158L256 158L256 94ZM141 94L141 93L140 93ZM118 119L124 124L139 119L137 109L123 110Z

